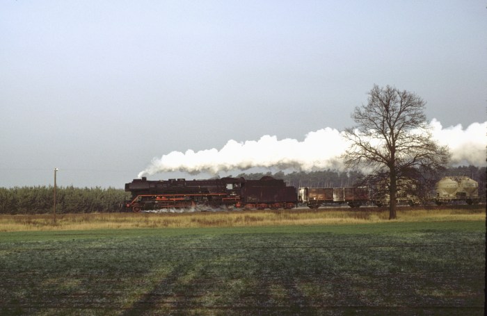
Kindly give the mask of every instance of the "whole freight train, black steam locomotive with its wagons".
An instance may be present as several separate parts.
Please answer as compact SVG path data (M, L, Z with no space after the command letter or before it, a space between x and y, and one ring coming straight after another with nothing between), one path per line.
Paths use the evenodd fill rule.
M372 198L367 187L296 190L294 186L286 185L283 180L271 176L264 176L260 180L227 177L191 181L184 178L150 181L143 177L126 183L125 191L131 193L131 198L123 203L123 208L135 213L195 206L263 210L295 208L298 204L309 208L319 208L323 204L346 204L352 208L387 204L385 200ZM409 205L417 203L417 199L410 195L406 195L405 201ZM435 201L438 205L451 201L479 203L478 183L468 177L442 178L436 183Z

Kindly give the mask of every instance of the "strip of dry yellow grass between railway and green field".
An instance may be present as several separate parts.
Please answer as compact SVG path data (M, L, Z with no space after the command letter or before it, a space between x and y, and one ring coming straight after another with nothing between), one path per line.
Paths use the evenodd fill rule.
M399 208L397 222L485 220L485 206L471 208ZM234 210L195 213L90 213L57 215L3 215L0 231L72 231L129 228L199 228L241 226L308 226L390 222L388 210Z

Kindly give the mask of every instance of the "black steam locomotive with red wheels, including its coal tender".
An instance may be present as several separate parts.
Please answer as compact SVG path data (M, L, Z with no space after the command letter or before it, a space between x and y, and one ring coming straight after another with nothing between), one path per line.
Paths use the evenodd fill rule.
M125 201L124 208L135 213L193 206L294 208L297 203L296 188L271 176L260 180L220 178L191 181L184 178L150 181L143 177L126 183L125 191L131 193L131 198Z

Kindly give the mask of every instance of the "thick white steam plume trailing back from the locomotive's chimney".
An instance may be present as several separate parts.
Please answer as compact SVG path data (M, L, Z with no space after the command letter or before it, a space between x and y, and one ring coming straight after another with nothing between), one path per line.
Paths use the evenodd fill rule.
M460 124L443 128L436 119L431 121L433 138L440 145L448 145L452 152L452 165L483 166L486 163L487 122L474 123L465 130ZM218 174L230 170L246 170L252 167L296 169L306 172L324 169L344 169L340 155L348 148L342 132L323 128L310 132L305 139L264 135L260 140L237 142L229 140L223 148L202 151L173 151L152 163L138 174L150 176L160 172L206 172Z

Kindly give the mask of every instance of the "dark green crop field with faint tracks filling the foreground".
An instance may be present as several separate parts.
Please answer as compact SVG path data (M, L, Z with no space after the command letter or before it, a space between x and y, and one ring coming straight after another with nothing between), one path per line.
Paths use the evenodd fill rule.
M1 315L484 315L486 222L0 233Z

